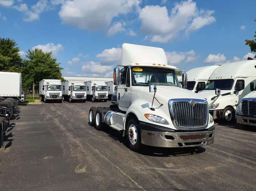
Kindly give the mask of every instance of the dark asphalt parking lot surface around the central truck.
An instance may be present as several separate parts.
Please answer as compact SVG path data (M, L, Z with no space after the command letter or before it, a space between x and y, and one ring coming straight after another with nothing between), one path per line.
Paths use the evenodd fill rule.
M198 149L130 151L118 132L88 125L91 106L20 106L0 149L0 190L256 190L256 128L216 124Z

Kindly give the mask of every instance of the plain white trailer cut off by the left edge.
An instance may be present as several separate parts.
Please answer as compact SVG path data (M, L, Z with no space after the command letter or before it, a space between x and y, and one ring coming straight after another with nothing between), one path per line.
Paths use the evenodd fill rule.
M25 101L22 94L22 74L16 72L0 72L0 97L1 99L13 98Z

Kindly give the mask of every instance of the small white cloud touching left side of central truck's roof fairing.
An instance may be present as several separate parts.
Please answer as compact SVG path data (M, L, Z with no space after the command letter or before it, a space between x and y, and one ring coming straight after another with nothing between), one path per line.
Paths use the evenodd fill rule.
M121 51L121 48L105 49L101 54L97 54L96 58L99 58L101 63L116 65L121 60Z

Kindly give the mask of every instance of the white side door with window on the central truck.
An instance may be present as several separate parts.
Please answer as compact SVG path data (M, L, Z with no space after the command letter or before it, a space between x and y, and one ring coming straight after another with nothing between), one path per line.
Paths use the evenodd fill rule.
M121 70L120 86L117 90L118 105L127 110L130 106L131 84L130 84L130 69L124 68Z

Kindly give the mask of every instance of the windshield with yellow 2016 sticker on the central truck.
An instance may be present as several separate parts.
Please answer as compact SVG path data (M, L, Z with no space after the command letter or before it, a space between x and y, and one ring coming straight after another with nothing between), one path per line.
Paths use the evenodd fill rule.
M177 75L172 69L143 66L132 68L133 86L149 86L150 84L181 87Z

